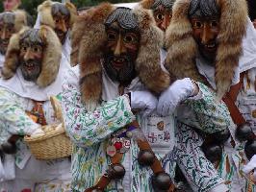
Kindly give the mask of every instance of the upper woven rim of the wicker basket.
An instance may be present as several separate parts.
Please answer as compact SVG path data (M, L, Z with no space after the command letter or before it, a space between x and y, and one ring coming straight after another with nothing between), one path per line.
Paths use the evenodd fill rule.
M64 132L65 132L65 130L64 130L64 127L62 126L62 129L54 130L54 131L50 131L50 132L44 132L43 135L39 135L39 136L28 136L28 135L25 135L24 136L24 140L26 142L30 142L30 143L31 142L38 142L38 141L42 141L42 140L54 137L56 135L62 134Z

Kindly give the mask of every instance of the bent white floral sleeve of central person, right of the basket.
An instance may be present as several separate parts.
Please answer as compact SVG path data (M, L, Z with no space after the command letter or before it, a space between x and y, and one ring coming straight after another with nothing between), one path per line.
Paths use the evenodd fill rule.
M87 111L81 102L80 91L73 84L63 85L62 105L66 131L80 147L103 141L135 119L126 96L108 101L92 112Z

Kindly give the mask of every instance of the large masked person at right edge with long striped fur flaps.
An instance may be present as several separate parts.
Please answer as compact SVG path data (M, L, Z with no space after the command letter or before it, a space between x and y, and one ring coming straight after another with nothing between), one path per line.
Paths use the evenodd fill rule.
M251 131L253 110L248 103L255 96L246 91L255 82L253 75L246 73L254 69L248 57L252 50L248 50L249 44L244 45L246 38L250 38L250 30L253 29L247 18L245 1L177 0L174 4L166 31L165 66L170 76L176 79L190 77L208 84L216 91L216 102L221 99L225 102L234 121L222 132L189 130L185 123L178 121L178 165L193 191L207 191L215 183L208 175L208 170L213 167L206 166L209 161L215 165L230 191L255 190L242 172L243 165L255 151L255 136ZM248 81L252 82L248 84ZM163 113L161 107L166 102L160 97L160 113ZM184 132L189 137L193 135L192 139L187 139ZM185 148L188 145L191 147ZM246 156L244 148L249 152L245 153Z

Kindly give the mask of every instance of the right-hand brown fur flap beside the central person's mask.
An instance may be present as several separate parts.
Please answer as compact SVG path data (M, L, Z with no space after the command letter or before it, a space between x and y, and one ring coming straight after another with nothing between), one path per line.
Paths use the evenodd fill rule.
M148 89L160 93L169 85L169 76L160 65L160 49L164 43L164 33L156 26L150 11L136 9L141 32L141 47L136 60L136 71L141 82Z

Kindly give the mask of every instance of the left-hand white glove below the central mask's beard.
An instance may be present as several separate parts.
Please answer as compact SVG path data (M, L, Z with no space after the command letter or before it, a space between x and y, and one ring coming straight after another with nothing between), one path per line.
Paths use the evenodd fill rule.
M150 115L157 107L157 98L149 91L131 92L131 108L139 109L142 116Z

